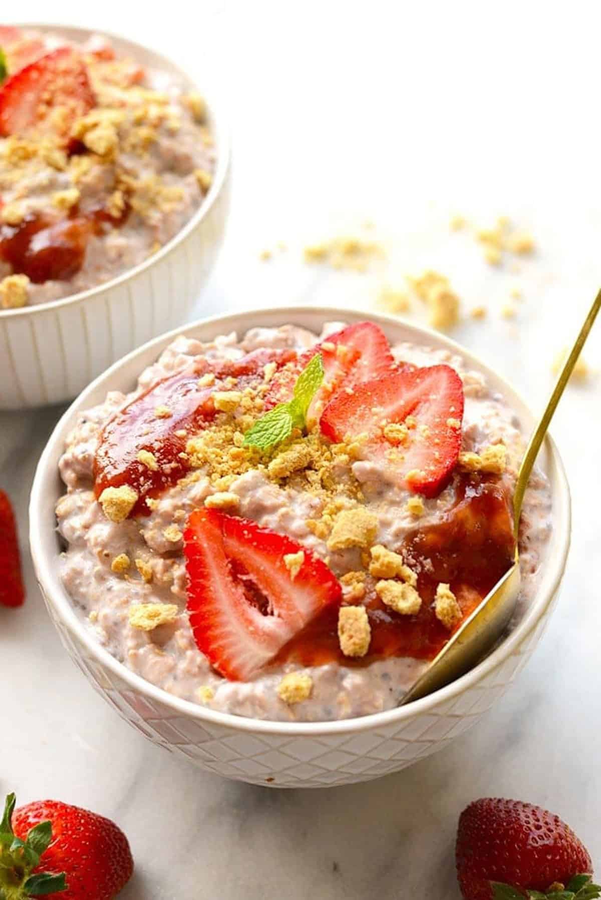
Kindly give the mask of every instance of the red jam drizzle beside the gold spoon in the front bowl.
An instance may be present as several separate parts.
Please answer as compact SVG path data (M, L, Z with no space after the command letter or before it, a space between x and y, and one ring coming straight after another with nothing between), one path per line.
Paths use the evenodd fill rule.
M341 653L338 609L327 608L278 653L275 662L362 666L390 656L432 660L450 636L434 614L438 584L451 584L464 620L513 563L507 492L495 482L466 478L460 485L460 499L442 522L418 529L395 549L411 561L412 568L420 570L417 590L422 607L416 616L400 616L387 608L369 577L366 607L371 642L366 656L351 660Z

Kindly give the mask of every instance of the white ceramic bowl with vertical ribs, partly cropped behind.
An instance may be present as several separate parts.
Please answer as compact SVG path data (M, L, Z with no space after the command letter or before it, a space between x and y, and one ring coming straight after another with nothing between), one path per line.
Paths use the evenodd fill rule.
M72 40L92 33L60 25L23 25ZM223 102L211 73L197 85L154 50L112 34L119 53L197 86L207 100L217 163L202 206L175 238L140 266L63 300L0 310L0 410L23 410L75 397L108 365L187 320L221 247L228 209L230 144Z

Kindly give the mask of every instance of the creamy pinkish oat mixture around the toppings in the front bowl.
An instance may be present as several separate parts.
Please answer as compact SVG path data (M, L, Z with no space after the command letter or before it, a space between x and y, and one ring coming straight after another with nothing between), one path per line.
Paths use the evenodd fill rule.
M320 339L341 327L341 323L327 325ZM240 716L317 721L379 712L396 706L425 663L408 657L392 657L358 665L360 653L357 653L355 658L349 656L349 664L328 662L303 667L296 662L284 662L268 666L247 681L224 679L197 649L188 621L182 539L188 514L205 503L222 507L290 536L313 551L341 578L345 602L355 610L345 621L350 629L346 637L351 635L354 640L359 636L360 640L361 631L357 626L361 624L361 590L354 576L345 579L344 574L356 572L362 564L371 565L374 572L387 579L388 586L396 584L396 588L387 589L395 596L385 602L411 604L414 597L407 590L410 587L407 582L411 582L412 573L404 572L400 581L387 578L394 574L387 572L391 559L395 563L389 551L394 552L416 528L427 529L442 521L457 501L460 476L454 474L437 497L426 499L385 482L377 464L353 460L348 453L322 455L319 465L315 465L318 473L311 475L310 482L303 482L295 473L286 471L286 465L279 465L278 469L273 460L270 465L250 466L246 471L241 471L244 468L241 466L234 473L224 473L215 462L215 456L219 459L222 456L215 450L209 459L197 446L190 477L151 500L150 515L123 518L131 503L129 508L125 503L126 509L120 509L123 497L112 507L105 498L101 505L94 493L93 464L99 433L126 402L159 379L185 370L199 356L211 360L238 359L265 347L290 347L303 352L317 339L311 332L292 326L250 329L241 339L232 333L208 343L177 338L141 374L134 392L127 395L110 392L103 404L80 416L60 460L60 475L67 486L57 506L59 533L65 546L60 557L60 573L96 639L130 670L168 693ZM444 363L460 374L465 393L461 468L465 472L488 467L487 471L496 473L500 484L511 489L524 449L524 436L503 396L488 387L482 374L466 369L460 356L448 351L401 343L392 347L392 352L399 361L419 366ZM266 381L270 374L266 366ZM253 411L250 403L244 406L240 397L238 401L241 405L237 410L221 413L223 428L232 428L232 423L234 429L248 428ZM165 410L157 410L157 416L161 415L167 415ZM497 452L499 446L505 447L503 453ZM491 451L491 447L496 450ZM192 454L193 448L188 446L188 449ZM278 455L274 458L278 459ZM147 462L151 464L150 460ZM332 541L337 522L340 531L341 512L352 508L353 503L356 507L356 500L351 500L348 491L345 493L341 487L348 485L350 478L360 491L361 507L376 521L375 535L369 537L369 544L362 546L353 545L352 541L345 544L342 540L339 545ZM318 489L307 490L307 484L318 479L321 479ZM207 503L209 498L213 500ZM533 597L550 534L550 488L542 473L537 472L524 502L520 539L524 572L522 604ZM369 545L371 562L369 553L368 559L365 558ZM406 562L411 564L411 560ZM439 619L444 621L446 616L451 626L455 599L443 584L437 590L436 604ZM340 630L340 622L339 632L342 643L344 627Z

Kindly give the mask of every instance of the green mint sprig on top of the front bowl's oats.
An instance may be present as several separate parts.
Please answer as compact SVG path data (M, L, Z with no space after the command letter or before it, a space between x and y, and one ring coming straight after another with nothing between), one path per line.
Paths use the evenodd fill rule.
M285 441L295 428L304 431L306 414L322 382L323 359L321 353L317 353L296 379L292 400L278 403L257 419L244 435L244 446L266 451Z

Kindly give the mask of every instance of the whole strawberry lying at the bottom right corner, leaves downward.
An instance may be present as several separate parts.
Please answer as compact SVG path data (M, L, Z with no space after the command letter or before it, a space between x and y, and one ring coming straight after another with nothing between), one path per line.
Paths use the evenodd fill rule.
M519 800L486 797L464 809L456 859L465 900L601 896L601 888L591 883L590 856L576 834L559 816Z

